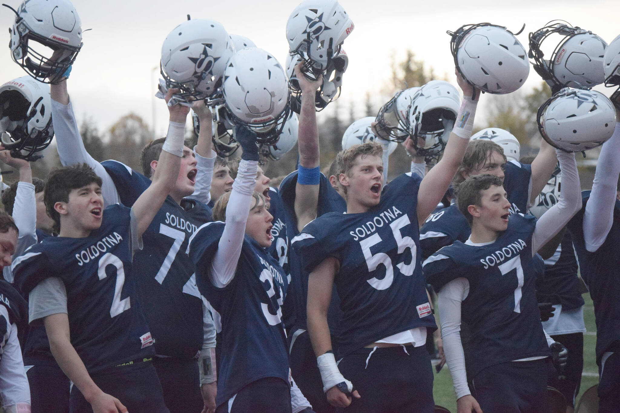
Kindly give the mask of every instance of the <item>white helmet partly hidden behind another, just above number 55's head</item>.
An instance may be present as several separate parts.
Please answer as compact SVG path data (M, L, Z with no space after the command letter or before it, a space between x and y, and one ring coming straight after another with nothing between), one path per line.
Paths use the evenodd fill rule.
M409 107L419 87L399 90L385 105L379 108L376 130L389 141L404 142L413 133L409 122Z

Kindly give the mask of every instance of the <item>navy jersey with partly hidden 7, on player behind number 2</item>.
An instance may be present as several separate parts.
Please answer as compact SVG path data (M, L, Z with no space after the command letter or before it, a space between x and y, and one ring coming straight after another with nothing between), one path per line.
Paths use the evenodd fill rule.
M121 202L132 206L151 180L123 163L102 163L112 176ZM134 256L136 297L140 301L158 355L192 359L203 344L202 301L191 290L193 263L187 256L189 238L211 221L204 204L183 199L181 205L166 198L143 233L144 248Z

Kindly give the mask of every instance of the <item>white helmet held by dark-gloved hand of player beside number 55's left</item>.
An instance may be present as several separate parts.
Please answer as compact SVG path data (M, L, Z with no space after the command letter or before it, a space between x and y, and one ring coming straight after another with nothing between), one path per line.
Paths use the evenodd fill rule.
M257 142L274 145L290 114L288 81L272 54L259 48L237 51L224 71L224 104L231 124L244 124Z

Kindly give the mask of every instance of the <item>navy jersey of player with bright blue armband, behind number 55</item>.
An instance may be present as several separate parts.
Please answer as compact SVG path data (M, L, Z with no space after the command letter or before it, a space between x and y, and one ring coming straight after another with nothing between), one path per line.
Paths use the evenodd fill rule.
M292 240L299 235L297 229L297 220L295 216L295 188L297 186L297 171L291 172L280 183L280 198L286 208L286 231L288 239ZM319 183L319 202L317 204L317 217L321 217L327 212L338 212L342 214L347 211L347 202L340 196L325 175L321 173ZM291 282L288 288L287 297L291 297L295 308L296 321L294 328L307 330L306 325L306 302L308 300L308 275L301 262L299 253L291 248L289 251ZM288 298L287 298L288 300ZM340 310L340 298L334 287L332 291L332 300L327 311L327 324L332 336L337 337L340 332L340 318L342 311Z

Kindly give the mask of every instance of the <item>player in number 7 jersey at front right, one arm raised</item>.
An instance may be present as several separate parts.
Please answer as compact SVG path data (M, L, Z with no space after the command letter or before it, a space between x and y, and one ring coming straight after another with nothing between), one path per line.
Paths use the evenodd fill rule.
M565 363L564 347L542 329L533 260L581 208L575 155L557 150L557 158L564 172L562 196L538 222L531 215L511 214L500 177L474 175L463 181L456 205L471 235L423 263L438 292L459 413L544 412L549 346ZM466 346L461 320L471 329Z

